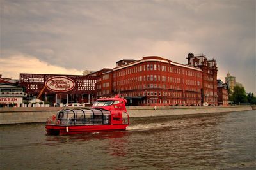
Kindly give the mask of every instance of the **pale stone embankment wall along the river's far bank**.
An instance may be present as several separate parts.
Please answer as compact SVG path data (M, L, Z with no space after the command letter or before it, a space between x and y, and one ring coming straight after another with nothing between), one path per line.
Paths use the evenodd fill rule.
M0 108L0 124L20 124L45 122L48 117L61 110L49 108ZM234 111L256 110L256 106L132 106L127 107L130 117L157 117L172 115L191 115L205 113L225 113Z

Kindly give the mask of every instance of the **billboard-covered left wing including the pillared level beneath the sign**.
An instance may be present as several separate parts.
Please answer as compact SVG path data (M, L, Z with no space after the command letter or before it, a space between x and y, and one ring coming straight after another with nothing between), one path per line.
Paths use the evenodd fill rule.
M20 85L28 100L37 98L50 103L90 103L96 93L95 76L20 73Z

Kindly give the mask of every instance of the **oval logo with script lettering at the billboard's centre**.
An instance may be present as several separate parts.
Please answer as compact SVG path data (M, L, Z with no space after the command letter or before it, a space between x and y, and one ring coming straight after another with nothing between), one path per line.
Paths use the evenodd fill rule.
M46 87L54 92L68 92L75 87L75 82L65 76L54 76L46 81Z

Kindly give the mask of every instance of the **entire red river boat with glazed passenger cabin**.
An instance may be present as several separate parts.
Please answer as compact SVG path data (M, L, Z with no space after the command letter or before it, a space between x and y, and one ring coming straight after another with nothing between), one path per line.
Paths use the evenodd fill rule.
M116 96L98 99L92 108L65 108L48 118L46 132L63 135L125 130L129 125L125 103L125 99Z

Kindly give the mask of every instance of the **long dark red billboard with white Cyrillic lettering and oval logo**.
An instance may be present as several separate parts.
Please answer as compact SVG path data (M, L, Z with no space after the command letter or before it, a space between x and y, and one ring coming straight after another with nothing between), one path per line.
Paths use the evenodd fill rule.
M54 74L20 73L20 85L26 87L27 93L92 94L96 92L95 76L72 76Z

